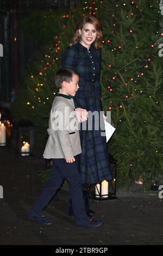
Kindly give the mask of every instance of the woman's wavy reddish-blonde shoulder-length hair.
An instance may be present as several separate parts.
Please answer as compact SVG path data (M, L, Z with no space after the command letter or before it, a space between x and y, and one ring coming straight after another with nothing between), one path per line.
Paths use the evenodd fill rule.
M79 20L79 22L77 23L76 32L74 33L74 36L70 41L70 45L74 45L77 42L80 42L81 38L79 34L79 29L82 29L85 23L91 23L96 28L97 36L96 40L92 44L96 47L96 49L101 48L103 40L102 26L101 23L91 15L86 15Z

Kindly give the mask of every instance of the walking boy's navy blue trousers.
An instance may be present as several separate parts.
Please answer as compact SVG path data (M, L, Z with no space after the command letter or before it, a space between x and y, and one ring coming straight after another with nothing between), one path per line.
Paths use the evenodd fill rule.
M42 215L43 208L47 206L62 181L66 179L70 186L70 197L76 221L88 220L83 203L82 182L77 168L78 156L74 156L74 158L76 161L73 163L66 163L65 159L53 159L49 180L32 208L38 215Z

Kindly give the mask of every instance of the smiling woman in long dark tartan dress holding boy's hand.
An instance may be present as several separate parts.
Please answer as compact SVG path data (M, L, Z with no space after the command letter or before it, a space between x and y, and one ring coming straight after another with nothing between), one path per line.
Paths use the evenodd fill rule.
M79 75L79 89L74 97L76 110L102 111L100 66L102 45L102 29L100 22L90 15L82 17L77 24L71 44L66 48L61 68L76 70ZM111 179L106 138L101 136L102 130L81 130L80 141L82 154L79 155L79 173L83 182L84 201L88 214L89 185Z

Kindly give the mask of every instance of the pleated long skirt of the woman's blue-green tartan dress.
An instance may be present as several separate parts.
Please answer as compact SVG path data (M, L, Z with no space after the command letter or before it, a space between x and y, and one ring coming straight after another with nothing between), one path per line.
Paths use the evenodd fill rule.
M85 108L87 111L97 111L98 113L102 111L100 96L94 92L79 90L76 94L76 99L78 100L79 106L81 108ZM93 119L92 130L88 129L89 120L80 124L82 154L79 155L78 169L82 182L86 184L94 184L103 180L111 179L106 137L101 136L101 133L104 132L102 114L101 120L103 122L102 129L101 125L99 125L99 130L95 129L95 119ZM98 122L96 119L96 124Z

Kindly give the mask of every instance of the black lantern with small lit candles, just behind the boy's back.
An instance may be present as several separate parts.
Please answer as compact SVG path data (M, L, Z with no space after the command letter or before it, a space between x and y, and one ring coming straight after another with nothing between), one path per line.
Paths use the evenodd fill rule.
M17 127L17 153L19 156L34 156L35 129L31 122L22 121Z

